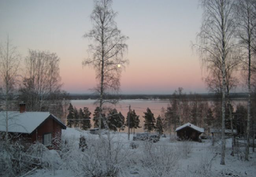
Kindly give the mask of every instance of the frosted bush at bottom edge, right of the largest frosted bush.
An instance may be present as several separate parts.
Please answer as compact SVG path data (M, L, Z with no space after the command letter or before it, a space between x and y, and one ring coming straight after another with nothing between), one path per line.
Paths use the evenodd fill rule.
M178 149L170 144L145 141L141 148L140 162L145 176L175 176L179 156Z

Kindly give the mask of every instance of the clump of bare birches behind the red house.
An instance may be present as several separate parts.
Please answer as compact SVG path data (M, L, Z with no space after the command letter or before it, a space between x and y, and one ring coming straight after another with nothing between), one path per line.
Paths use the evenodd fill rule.
M62 87L58 55L29 50L24 61L25 77L20 88L20 99L26 101L28 111L45 111L45 107L51 104L45 100L55 100L53 103L56 105L56 95L61 93Z

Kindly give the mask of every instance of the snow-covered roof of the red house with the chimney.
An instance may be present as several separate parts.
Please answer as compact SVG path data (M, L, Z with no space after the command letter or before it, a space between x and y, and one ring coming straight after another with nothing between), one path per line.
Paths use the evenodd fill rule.
M8 111L8 131L18 133L32 133L47 118L53 118L65 129L66 125L50 112L22 112ZM0 112L0 131L6 131L6 111Z

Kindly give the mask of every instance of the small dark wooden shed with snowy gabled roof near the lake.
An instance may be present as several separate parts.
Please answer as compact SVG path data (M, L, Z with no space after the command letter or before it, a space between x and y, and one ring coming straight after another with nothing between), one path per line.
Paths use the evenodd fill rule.
M177 127L175 131L181 140L199 141L199 135L204 133L204 128L197 127L188 122L187 124Z

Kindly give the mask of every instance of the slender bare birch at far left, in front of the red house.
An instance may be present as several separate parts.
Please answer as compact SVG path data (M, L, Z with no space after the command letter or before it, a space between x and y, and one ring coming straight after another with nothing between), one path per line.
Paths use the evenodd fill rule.
M17 48L12 46L7 35L6 46L0 47L0 77L3 95L6 102L6 148L8 147L8 110L9 96L15 90L21 57Z

